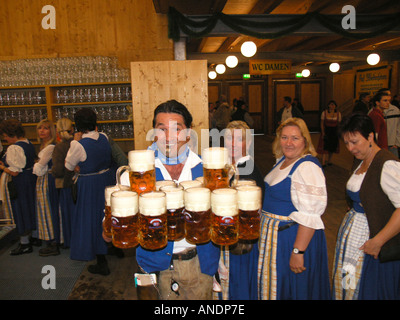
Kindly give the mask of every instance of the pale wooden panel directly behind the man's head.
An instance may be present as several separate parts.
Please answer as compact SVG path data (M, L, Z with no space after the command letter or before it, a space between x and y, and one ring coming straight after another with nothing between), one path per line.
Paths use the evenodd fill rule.
M135 149L151 144L146 135L152 128L154 109L162 102L176 99L193 116L199 152L201 129L208 129L207 61L132 62L131 77Z

